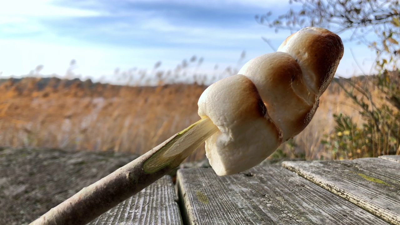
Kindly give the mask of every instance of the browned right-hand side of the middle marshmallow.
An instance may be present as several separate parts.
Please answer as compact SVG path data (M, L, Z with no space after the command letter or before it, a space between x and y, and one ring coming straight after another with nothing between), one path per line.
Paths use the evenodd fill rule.
M302 70L294 58L281 52L273 54L279 61L268 70L270 79L264 84L268 92L263 94L263 100L272 120L284 131L283 141L287 141L310 123L315 100L308 101L308 96L315 95L303 84Z

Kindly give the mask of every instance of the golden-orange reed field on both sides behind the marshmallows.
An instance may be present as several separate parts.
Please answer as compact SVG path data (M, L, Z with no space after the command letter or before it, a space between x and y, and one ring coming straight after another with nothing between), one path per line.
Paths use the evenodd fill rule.
M197 100L205 88L196 83L138 87L59 78L2 80L0 146L143 154L200 119ZM311 123L294 138L296 146L282 144L282 151L288 157L300 152L306 159L332 159L320 143L334 132L332 115L342 112L360 122L357 110L332 82ZM203 144L187 160L204 155Z

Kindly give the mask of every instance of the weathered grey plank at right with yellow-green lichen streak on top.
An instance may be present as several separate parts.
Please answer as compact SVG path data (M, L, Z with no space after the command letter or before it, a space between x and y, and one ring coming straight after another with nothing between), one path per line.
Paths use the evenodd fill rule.
M285 161L283 167L400 225L400 163L378 158L340 161Z

